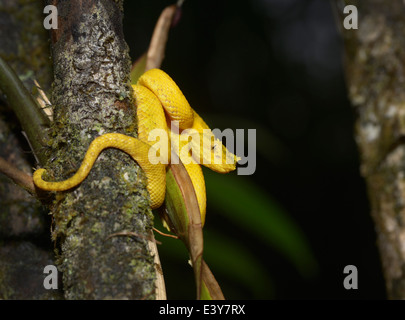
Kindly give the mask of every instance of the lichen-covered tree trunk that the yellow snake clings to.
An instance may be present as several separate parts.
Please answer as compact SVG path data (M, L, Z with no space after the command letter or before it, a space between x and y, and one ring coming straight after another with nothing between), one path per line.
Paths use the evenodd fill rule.
M136 136L122 1L51 1L54 126L48 178L75 172L90 142L106 132ZM86 180L52 204L54 239L68 299L154 299L148 238L153 216L145 175L121 151L105 150ZM113 236L132 232L133 236Z

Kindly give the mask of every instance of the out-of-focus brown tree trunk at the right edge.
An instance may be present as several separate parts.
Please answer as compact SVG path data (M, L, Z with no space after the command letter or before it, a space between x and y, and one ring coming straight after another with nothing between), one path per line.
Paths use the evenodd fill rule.
M405 5L336 3L341 28L344 5L359 13L357 30L342 28L347 86L387 293L405 299Z

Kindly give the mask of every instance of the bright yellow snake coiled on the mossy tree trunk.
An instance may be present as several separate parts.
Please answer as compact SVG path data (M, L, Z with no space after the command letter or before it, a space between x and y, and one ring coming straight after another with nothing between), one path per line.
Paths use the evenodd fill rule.
M42 179L45 169L34 172L35 185L47 191L65 191L80 184L90 172L98 155L106 148L120 149L129 154L145 171L148 180L147 189L152 209L162 205L166 192L166 164L170 160L170 145L157 150L148 140L154 129L162 129L170 138L173 150L178 150L195 189L204 224L206 213L206 192L204 176L199 163L210 169L226 173L236 167L240 159L230 153L219 139L216 139L202 118L190 107L187 99L176 83L160 69L145 72L134 89L137 107L138 138L120 133L107 133L95 138L84 157L79 170L69 179L49 182ZM166 119L166 115L168 119ZM167 120L177 124L167 126ZM174 130L176 129L176 130ZM205 130L204 130L205 129ZM204 130L204 131L203 131ZM183 133L189 132L191 142L182 139ZM189 148L185 148L185 146ZM167 157L165 158L165 154ZM159 155L164 163L151 163L151 157ZM154 161L156 162L156 161ZM207 163L208 162L208 163Z

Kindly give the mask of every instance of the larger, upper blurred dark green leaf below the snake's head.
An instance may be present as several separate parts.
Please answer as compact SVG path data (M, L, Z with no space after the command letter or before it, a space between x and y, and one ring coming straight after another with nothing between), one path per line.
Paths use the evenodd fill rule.
M317 272L308 241L279 204L247 176L220 175L204 170L208 210L215 207L233 223L274 247L304 277ZM209 211L208 211L209 214Z

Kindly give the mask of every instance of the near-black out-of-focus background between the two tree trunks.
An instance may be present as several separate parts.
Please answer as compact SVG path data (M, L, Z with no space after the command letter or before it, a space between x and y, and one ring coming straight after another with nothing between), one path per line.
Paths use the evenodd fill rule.
M133 60L147 50L160 12L172 3L125 1ZM225 268L216 268L211 258L207 262L226 298L386 297L336 23L342 21L326 0L187 0L171 30L162 69L211 127L257 129L251 179L294 219L318 263L312 276L302 276L280 252L222 217L208 199L208 235L243 245L269 276L268 290L256 290L224 272L243 266L235 257ZM176 249L183 252L179 259L165 246L174 240L159 240L168 298L193 299L185 248ZM358 268L358 290L343 287L349 264Z

